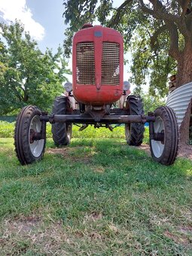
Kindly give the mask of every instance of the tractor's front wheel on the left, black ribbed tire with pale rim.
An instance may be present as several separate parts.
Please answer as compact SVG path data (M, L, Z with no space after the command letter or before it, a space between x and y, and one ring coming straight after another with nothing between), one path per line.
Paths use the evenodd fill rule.
M36 106L29 105L17 116L14 145L17 157L23 165L41 160L44 155L45 139L33 139L35 133L41 133L41 114Z

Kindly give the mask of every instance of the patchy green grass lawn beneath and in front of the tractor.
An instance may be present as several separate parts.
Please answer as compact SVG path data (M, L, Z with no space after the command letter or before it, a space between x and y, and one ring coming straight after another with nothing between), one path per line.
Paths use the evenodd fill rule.
M48 139L44 160L20 166L13 143L0 138L1 255L192 255L189 160L162 166L124 139Z

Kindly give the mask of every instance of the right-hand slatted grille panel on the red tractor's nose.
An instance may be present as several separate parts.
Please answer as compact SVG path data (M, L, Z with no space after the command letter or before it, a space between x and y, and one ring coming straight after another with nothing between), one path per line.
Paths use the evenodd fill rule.
M120 44L102 43L102 84L120 84Z

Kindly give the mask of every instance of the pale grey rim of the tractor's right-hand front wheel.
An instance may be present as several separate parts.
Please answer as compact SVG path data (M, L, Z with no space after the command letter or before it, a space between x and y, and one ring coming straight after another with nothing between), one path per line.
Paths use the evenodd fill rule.
M161 117L156 117L154 122L154 133L161 133L165 130L163 119ZM155 141L151 139L151 147L153 150L153 154L155 157L159 158L163 154L163 150L165 148L165 139L164 142Z

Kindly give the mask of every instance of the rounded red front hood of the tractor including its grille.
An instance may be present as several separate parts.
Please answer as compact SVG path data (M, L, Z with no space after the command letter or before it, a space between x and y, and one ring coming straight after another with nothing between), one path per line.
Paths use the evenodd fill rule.
M123 37L114 29L85 24L72 48L72 90L85 105L102 106L123 94Z

